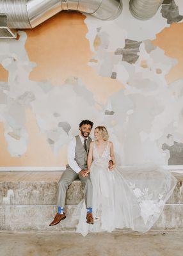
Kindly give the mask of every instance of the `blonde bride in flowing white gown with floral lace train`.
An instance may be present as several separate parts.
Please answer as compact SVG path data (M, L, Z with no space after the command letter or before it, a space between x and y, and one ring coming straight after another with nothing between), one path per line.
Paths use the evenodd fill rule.
M88 232L111 232L116 228L147 232L163 212L177 180L157 166L116 166L113 143L108 138L106 127L95 128L95 141L91 142L88 155L95 221L94 225L84 221L83 200L76 210L79 214L76 232L83 236ZM109 160L113 161L110 168Z

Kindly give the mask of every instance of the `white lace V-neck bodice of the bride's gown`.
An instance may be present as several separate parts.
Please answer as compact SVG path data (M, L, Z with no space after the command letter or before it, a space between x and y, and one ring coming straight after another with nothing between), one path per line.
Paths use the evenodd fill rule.
M110 147L109 141L107 141L107 145L104 148L102 155L99 155L99 151L97 150L96 141L93 141L93 162L97 164L105 164L108 165L110 157Z

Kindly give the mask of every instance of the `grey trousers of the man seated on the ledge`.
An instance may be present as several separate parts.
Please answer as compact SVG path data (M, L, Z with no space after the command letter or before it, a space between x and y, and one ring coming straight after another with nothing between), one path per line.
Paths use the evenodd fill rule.
M57 206L65 206L65 198L67 194L68 186L76 179L80 179L84 187L84 200L86 208L92 208L92 182L90 180L90 174L88 177L83 177L77 174L72 169L67 168L58 182L57 189Z

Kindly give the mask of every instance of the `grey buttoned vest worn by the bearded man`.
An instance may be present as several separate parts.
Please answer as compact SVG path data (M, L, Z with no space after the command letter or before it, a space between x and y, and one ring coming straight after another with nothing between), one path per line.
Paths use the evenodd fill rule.
M91 141L92 139L88 137L88 140L86 142L86 151L85 151L79 135L76 136L75 161L82 170L87 168L87 159L88 159L88 153L89 153ZM66 167L70 168L68 164Z

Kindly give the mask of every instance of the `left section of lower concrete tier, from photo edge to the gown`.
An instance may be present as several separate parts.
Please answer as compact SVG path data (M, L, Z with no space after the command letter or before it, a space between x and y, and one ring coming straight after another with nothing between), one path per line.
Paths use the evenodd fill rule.
M49 227L56 213L56 207L52 205L1 205L0 230L74 230L77 225L77 221L72 220L74 209L76 206L65 207L67 218L61 221L59 225Z

